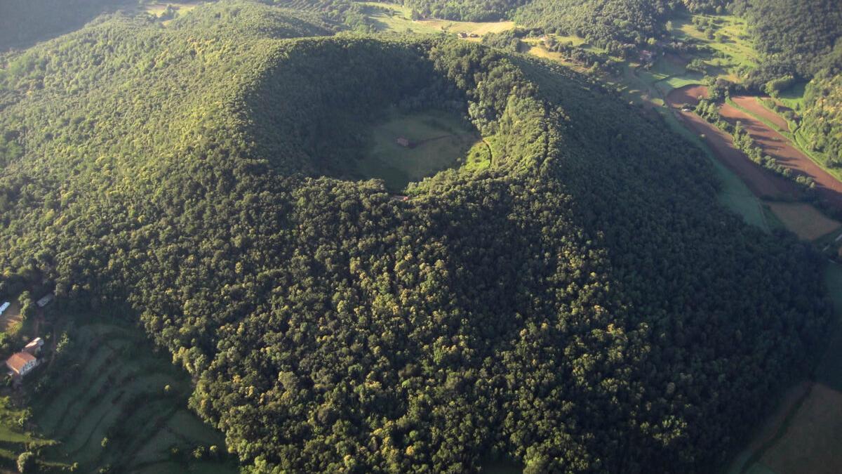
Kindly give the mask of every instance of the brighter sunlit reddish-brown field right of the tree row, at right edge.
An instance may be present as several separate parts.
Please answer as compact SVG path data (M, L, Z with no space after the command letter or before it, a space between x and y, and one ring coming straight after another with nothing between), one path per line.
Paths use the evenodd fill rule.
M719 110L725 120L732 123L743 122L743 126L757 142L763 152L774 158L778 163L791 168L794 172L813 177L816 180L818 194L834 207L842 209L842 182L833 175L822 170L812 159L807 158L800 150L793 147L786 137L775 132L765 123L731 105L722 105Z

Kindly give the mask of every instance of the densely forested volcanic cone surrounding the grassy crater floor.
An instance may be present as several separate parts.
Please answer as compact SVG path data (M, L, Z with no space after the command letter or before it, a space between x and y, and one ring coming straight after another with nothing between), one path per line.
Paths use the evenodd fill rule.
M141 321L255 471L710 471L810 366L822 259L681 138L480 45L285 39L327 31L226 1L3 58L4 281ZM493 164L355 179L392 107Z

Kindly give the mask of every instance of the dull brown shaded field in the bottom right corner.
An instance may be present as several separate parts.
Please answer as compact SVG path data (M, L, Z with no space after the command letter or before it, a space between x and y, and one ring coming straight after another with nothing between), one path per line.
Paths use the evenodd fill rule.
M842 471L842 393L815 384L783 437L761 460L778 474Z

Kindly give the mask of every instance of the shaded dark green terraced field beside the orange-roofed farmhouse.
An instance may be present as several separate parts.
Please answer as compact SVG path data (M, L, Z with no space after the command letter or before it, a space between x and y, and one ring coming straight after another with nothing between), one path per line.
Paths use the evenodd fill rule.
M89 324L71 340L31 406L40 432L61 441L45 460L82 471L236 471L209 459L225 452L224 439L186 411L185 374L132 329Z

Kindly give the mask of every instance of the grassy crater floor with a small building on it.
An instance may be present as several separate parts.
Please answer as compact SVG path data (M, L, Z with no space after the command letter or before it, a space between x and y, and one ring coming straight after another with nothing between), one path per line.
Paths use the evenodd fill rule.
M397 144L398 137L408 138L413 146ZM392 112L374 127L373 145L356 171L381 178L389 189L400 191L411 181L456 167L466 154L471 167L483 166L482 141L458 116L438 110L410 115Z

